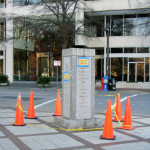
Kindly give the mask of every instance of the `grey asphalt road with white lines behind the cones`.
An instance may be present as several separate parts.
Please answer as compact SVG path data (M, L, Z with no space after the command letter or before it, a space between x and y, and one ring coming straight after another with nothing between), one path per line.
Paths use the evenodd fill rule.
M18 93L21 93L23 109L27 111L31 90L33 90L34 94L35 112L53 113L57 95L56 83L51 84L50 88L44 89L37 88L33 83L11 84L7 87L0 87L0 107L15 109ZM109 99L113 107L117 93L120 93L123 114L127 96L130 96L133 115L150 115L150 92L142 90L95 91L95 113L105 113Z

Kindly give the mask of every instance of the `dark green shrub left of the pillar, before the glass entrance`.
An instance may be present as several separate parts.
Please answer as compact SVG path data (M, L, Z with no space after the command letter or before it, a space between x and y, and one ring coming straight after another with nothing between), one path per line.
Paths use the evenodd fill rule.
M46 85L50 85L50 78L46 76L38 77L36 84L37 85L40 84L42 87L45 87Z

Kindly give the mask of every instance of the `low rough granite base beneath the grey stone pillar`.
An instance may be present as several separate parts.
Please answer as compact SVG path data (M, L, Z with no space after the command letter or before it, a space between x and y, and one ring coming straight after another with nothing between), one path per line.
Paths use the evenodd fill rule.
M91 119L76 119L71 120L64 117L54 117L54 123L59 128L65 129L91 129L101 128L103 126L103 118L91 118Z

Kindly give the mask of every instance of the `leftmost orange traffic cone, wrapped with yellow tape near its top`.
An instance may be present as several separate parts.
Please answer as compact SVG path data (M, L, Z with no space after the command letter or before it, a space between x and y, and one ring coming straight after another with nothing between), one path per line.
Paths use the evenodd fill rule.
M23 118L23 109L22 109L22 100L21 94L17 97L17 108L16 108L16 118L13 124L14 126L24 126L24 118Z

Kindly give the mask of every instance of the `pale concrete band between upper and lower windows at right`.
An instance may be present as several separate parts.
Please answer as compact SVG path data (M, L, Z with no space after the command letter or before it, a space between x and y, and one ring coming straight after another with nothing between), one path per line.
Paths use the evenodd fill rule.
M107 47L107 37L87 37L80 35L78 45ZM110 47L150 47L150 36L110 36Z

